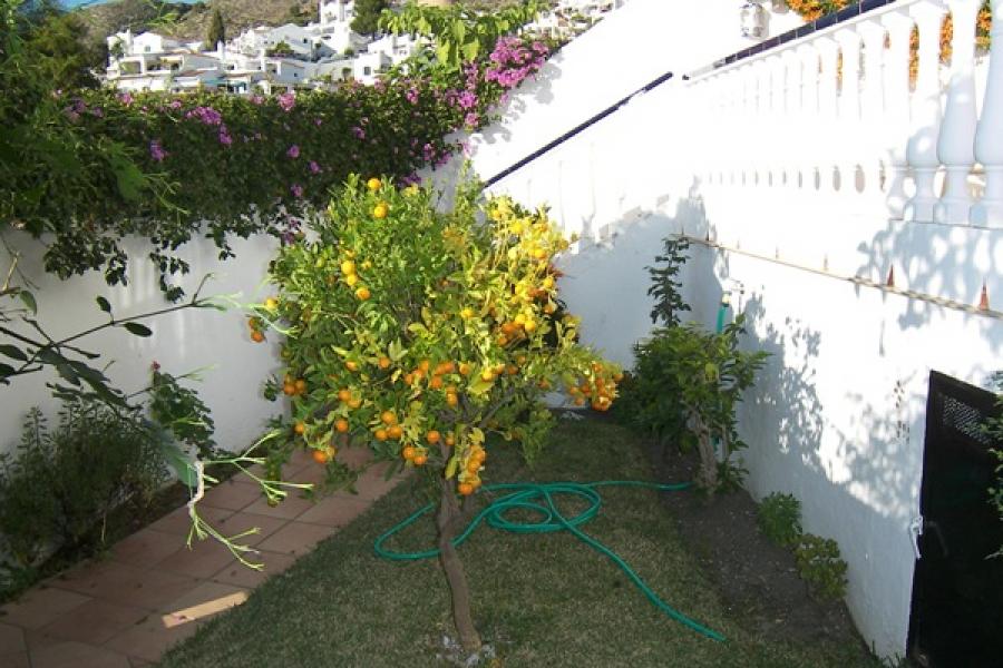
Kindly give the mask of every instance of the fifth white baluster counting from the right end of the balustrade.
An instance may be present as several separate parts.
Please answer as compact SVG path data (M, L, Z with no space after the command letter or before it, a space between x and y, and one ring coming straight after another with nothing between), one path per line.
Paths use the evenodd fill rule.
M864 90L860 95L860 137L866 146L860 159L866 191L880 193L882 120L885 115L885 27L877 20L864 21L858 28L864 39Z

